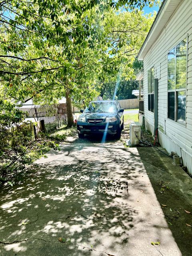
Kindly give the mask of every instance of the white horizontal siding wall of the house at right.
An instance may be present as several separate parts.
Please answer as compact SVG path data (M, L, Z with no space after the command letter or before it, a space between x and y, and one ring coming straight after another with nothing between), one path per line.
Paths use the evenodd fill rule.
M188 34L186 126L167 118L167 54ZM146 127L154 132L154 114L148 111L147 72L154 66L158 78L158 130L162 147L182 156L192 174L192 0L181 1L172 17L144 56L144 111Z

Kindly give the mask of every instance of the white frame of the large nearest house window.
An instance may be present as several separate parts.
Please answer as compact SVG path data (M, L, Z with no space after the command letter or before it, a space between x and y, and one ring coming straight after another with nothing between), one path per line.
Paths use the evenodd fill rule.
M174 48L176 48L184 39L186 39L186 86L185 88L180 88L180 89L176 89L176 58L175 58L175 89L174 90L168 90L168 54L171 50L173 50ZM187 74L188 74L188 34L182 38L182 40L180 40L178 42L178 44L176 44L174 47L172 47L168 53L167 53L167 119L171 120L173 122L177 122L178 124L181 124L183 126L186 126L186 110L187 108L185 108L185 121L180 121L177 120L177 112L178 112L178 92L185 92L186 95L186 103L187 103ZM174 92L175 93L175 114L174 114L174 120L168 117L168 93L169 92Z

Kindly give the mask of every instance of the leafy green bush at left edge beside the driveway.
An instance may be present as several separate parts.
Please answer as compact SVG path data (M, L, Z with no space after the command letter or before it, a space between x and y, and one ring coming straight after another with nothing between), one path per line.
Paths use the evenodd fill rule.
M45 134L34 137L34 123L14 104L0 101L0 183L14 178L43 155L43 149L58 149Z

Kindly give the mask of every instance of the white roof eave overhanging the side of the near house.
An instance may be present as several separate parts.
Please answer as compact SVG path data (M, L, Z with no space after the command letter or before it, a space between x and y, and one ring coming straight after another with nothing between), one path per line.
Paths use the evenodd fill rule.
M164 0L162 2L148 35L138 53L138 60L143 60L144 56L162 32L164 26L167 24L180 2L182 2L182 0Z

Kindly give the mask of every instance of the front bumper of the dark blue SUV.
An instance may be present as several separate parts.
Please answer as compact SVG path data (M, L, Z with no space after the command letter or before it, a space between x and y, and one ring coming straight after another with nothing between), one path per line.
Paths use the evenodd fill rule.
M108 134L116 134L118 128L119 124L116 122L99 124L77 122L77 130L80 134L103 134L104 132Z

